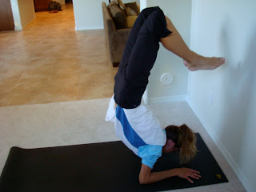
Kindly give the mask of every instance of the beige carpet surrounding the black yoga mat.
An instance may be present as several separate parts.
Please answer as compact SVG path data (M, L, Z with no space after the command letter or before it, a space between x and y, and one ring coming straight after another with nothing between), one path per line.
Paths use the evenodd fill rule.
M105 122L110 98L0 107L0 170L11 146L36 148L116 141L113 122ZM201 134L230 182L175 191L246 191L186 102L152 104L162 127L186 123ZM210 166L210 165L209 165Z

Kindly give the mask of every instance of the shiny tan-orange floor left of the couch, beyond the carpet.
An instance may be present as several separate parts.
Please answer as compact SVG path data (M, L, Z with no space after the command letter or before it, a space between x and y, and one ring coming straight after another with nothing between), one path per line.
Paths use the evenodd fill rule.
M38 12L22 31L0 33L0 106L110 98L104 30L74 30L72 4Z

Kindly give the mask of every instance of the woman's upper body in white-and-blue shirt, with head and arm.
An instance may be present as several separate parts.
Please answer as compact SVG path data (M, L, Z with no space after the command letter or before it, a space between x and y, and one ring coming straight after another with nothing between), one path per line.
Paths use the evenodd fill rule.
M142 158L139 174L141 184L158 182L173 176L186 178L192 183L190 177L201 178L197 170L187 168L151 173L154 163L162 153L180 150L181 163L194 158L195 136L188 126L167 126L162 130L158 119L144 104L134 109L124 109L116 106L114 96L110 100L106 121L114 122L115 134L134 154Z

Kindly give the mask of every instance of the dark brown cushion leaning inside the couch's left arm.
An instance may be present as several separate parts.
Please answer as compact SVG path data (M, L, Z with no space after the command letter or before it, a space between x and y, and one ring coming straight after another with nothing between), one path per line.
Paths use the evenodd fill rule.
M110 6L110 14L117 30L127 28L126 15L119 6Z

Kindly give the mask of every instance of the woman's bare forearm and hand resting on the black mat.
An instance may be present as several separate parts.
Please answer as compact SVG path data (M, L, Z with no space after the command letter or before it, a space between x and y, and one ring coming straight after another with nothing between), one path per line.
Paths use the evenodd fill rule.
M142 164L142 168L139 173L139 183L149 184L174 176L186 178L189 182L193 183L193 181L189 177L199 179L201 178L199 174L200 173L197 170L192 170L185 167L151 173L150 167Z

